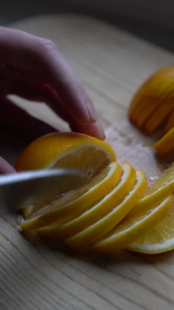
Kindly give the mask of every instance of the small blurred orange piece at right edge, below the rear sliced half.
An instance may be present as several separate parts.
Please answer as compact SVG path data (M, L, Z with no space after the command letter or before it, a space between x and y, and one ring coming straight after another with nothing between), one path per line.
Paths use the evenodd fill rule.
M174 127L154 145L160 155L165 155L174 148Z

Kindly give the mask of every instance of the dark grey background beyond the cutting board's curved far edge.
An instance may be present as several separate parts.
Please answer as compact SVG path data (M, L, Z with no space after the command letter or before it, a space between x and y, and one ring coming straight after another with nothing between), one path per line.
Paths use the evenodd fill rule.
M0 25L56 12L95 16L174 52L173 0L0 0Z

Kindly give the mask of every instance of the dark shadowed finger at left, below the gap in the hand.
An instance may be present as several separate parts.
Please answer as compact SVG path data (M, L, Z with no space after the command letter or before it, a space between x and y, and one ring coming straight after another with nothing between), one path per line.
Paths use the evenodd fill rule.
M28 139L36 139L41 135L55 132L56 129L32 117L11 100L0 100L0 125L17 132Z

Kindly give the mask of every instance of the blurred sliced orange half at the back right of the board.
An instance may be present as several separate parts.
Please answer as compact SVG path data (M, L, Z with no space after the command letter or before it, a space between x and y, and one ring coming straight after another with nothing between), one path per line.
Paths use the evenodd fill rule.
M148 134L163 128L164 135L155 144L159 154L174 148L174 67L158 70L138 89L130 104L129 118Z

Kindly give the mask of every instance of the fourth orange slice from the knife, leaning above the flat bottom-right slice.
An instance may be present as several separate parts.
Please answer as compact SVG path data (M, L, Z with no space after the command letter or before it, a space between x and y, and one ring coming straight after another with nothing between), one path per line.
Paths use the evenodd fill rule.
M162 202L139 211L137 214L123 220L111 232L92 246L92 249L102 253L115 253L127 247L130 243L160 222L172 206L172 195Z

